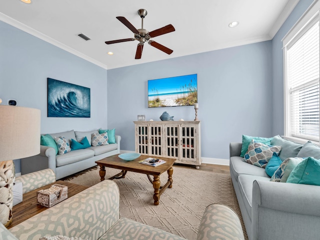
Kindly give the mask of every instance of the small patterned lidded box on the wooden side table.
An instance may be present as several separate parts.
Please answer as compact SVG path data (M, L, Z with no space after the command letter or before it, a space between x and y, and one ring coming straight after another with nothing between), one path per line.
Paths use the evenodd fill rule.
M37 203L51 207L68 197L68 187L60 184L53 184L49 188L38 190L36 192Z

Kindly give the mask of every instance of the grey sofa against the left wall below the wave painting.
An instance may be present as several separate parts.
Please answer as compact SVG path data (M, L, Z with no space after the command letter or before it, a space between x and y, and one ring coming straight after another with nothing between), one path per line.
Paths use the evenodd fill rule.
M96 160L104 157L120 153L120 140L121 136L114 135L113 131L108 132L108 143L103 145L91 146L92 134L102 134L106 130L97 129L92 131L65 131L58 133L42 134L40 153L35 156L26 157L21 159L21 174L26 174L41 169L50 168L55 173L56 179L71 175L78 171L95 166ZM40 137L40 136L39 136ZM58 149L54 147L54 142L51 144L42 145L42 138L48 137L43 140L45 143L51 143L50 137L63 137L67 144L72 149L72 144L79 145L84 138L87 139L88 147L83 149L72 149L63 154L58 153ZM112 138L112 139L111 139ZM72 140L73 139L73 140ZM110 141L111 139L111 141ZM75 142L76 141L76 142Z

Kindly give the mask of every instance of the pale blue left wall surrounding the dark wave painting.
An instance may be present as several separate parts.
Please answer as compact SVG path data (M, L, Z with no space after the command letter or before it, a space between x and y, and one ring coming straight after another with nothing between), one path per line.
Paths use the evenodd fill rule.
M106 69L0 21L0 98L41 110L41 133L107 127ZM90 88L91 117L47 117L46 78ZM27 139L24 139L27 140ZM20 172L19 161L15 161Z

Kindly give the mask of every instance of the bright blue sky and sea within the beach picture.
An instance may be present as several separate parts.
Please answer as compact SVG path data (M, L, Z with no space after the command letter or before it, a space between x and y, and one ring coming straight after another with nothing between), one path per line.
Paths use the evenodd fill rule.
M189 84L197 88L197 74L148 80L148 96L187 92Z

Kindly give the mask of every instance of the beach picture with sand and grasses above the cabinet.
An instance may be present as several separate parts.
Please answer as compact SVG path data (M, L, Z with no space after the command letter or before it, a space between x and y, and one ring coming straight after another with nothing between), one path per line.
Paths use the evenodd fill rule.
M188 106L197 102L197 74L148 80L148 107Z

